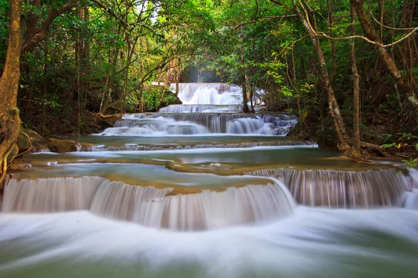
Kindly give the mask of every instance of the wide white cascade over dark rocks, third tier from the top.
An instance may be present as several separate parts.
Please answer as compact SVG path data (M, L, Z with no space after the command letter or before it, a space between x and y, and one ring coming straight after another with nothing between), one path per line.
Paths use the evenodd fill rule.
M104 136L163 136L207 133L286 136L297 117L285 114L141 113L128 114Z

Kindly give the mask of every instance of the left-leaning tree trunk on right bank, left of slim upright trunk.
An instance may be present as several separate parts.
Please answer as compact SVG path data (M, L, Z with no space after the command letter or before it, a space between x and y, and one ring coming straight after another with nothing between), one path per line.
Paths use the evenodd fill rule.
M302 21L302 25L304 26L304 28L307 30L309 34L309 38L311 38L313 48L314 48L314 53L316 53L318 56L318 61L320 64L320 76L319 77L325 87L325 90L327 91L328 108L329 108L329 113L332 117L332 122L334 123L336 136L338 138L338 142L339 142L338 148L341 151L346 151L347 149L350 148L350 146L348 145L348 136L346 133L346 126L344 125L343 117L341 116L341 113L340 113L339 104L336 101L334 90L332 89L330 75L328 74L328 69L327 69L327 62L325 60L323 50L320 47L319 37L315 33L316 32L315 30L316 17L314 13L312 13L311 16L313 18L313 23L314 23L314 26L312 26L309 22L309 16L305 8L302 6L302 9L303 9L303 13L302 13L300 8L298 8L295 0L293 0L293 4L294 4L293 9L295 10L297 17L300 18L300 20Z

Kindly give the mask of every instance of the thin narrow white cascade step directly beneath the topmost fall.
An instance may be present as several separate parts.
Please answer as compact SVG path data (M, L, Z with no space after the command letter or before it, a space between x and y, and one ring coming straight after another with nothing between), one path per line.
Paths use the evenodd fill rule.
M237 113L242 111L239 104L212 105L212 104L173 104L160 108L159 113Z

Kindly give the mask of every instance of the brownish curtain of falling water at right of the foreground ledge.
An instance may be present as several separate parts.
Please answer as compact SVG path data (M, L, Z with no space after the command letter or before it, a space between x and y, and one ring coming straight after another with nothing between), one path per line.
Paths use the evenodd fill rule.
M277 168L256 170L247 174L281 179L296 202L305 206L401 206L405 193L413 186L410 177L398 174L394 168L366 171Z

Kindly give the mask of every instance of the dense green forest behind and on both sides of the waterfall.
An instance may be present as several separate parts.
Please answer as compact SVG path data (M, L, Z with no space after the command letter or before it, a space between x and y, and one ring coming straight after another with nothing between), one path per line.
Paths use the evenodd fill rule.
M355 156L416 152L415 1L31 0L22 8L17 106L43 135L63 133L63 120L75 134L94 129L98 113L176 104L169 83L226 82L244 89L245 112L257 99L298 115L293 136ZM8 10L1 0L0 22ZM1 26L0 68L9 35Z

